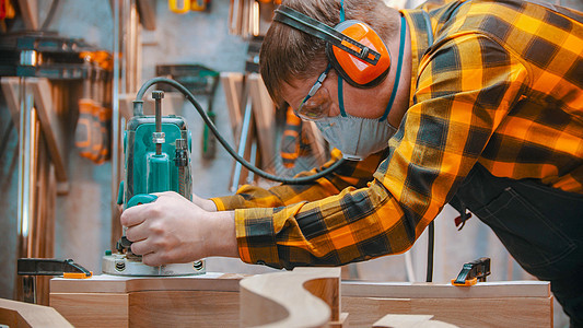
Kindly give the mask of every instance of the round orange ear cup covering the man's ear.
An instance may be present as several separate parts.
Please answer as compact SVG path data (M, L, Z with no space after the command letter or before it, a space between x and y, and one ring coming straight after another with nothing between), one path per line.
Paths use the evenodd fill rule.
M381 54L378 62L371 65L328 43L326 54L340 77L358 87L372 87L381 83L390 68L390 56L381 37L369 25L355 20L341 22L334 28ZM347 42L342 42L342 44L357 51L359 50L352 44Z

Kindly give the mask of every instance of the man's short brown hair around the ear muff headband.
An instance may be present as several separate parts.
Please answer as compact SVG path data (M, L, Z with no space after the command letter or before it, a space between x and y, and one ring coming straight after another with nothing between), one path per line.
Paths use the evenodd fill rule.
M319 22L335 26L340 22L340 0L287 0L281 3ZM387 44L398 31L398 12L382 0L345 0L346 20L369 24ZM326 42L273 21L259 54L259 70L269 95L281 104L283 82L319 74L327 65Z

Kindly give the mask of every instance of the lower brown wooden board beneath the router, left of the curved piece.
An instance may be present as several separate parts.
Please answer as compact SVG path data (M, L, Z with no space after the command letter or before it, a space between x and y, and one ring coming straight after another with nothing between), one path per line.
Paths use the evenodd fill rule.
M240 307L237 292L217 291L51 293L50 303L75 327L104 328L235 327Z

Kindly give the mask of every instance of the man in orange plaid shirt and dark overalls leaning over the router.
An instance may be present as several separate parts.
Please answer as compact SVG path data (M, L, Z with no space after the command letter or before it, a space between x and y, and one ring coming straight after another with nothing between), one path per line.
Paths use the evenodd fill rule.
M406 251L451 202L492 227L526 271L551 281L571 324L582 326L583 14L518 0L400 14L380 0L342 2L284 1L261 48L261 75L276 102L363 161L311 185L245 186L194 203L162 194L124 212L132 251L148 265L207 256L342 265ZM366 52L349 59L375 69L362 62L381 54L387 68L359 82L331 55L346 54L290 26L301 14L329 26L345 15L364 21L386 49L349 46Z

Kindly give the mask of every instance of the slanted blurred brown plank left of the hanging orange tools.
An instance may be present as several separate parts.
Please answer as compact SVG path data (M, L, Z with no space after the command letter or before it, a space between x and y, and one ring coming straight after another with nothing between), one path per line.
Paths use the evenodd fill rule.
M51 86L48 79L27 79L35 98L35 107L43 127L43 133L55 164L57 181L67 181L67 138L66 129L53 104Z

